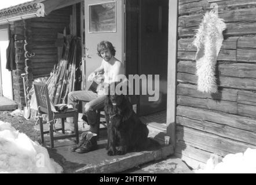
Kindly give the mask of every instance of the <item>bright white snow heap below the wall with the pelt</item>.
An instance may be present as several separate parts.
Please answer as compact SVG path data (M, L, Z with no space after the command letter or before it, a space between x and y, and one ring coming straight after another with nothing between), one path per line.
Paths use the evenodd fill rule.
M217 164L216 159L211 157L204 169L195 170L195 173L256 173L256 149L228 154Z

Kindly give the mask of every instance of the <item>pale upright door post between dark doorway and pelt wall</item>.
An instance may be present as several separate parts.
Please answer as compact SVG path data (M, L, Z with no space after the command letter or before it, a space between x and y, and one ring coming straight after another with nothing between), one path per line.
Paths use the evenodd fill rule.
M167 73L167 135L175 149L176 72L177 72L178 1L169 1L168 73Z

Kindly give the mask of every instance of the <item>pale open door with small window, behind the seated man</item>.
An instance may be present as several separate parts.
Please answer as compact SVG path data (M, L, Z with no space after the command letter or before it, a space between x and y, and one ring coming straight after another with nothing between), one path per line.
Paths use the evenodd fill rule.
M97 54L97 45L108 40L116 50L115 57L125 62L125 5L124 0L85 0L85 46L86 87L87 77L102 58Z

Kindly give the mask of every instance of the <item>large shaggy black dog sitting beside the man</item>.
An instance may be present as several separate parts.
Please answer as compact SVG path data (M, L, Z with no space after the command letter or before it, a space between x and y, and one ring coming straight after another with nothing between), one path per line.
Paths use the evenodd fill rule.
M140 121L125 95L108 95L104 110L108 130L108 156L145 149L149 132L147 125Z

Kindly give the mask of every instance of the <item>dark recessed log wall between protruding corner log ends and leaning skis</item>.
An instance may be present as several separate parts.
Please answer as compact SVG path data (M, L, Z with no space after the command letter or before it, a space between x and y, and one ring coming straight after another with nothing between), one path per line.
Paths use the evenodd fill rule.
M54 10L46 17L32 18L31 49L34 78L49 76L53 66L57 64L57 33L69 28L72 6Z

